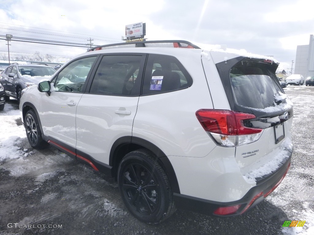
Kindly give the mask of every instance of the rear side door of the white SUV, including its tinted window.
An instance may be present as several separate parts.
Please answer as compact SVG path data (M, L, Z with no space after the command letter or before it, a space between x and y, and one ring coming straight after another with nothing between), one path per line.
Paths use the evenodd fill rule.
M146 55L104 55L76 112L77 154L109 164L113 143L132 136Z

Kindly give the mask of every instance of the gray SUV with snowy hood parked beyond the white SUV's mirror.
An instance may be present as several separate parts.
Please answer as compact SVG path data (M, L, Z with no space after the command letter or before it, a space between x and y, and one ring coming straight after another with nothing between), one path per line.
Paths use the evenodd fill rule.
M19 65L14 63L6 68L1 74L1 84L5 98L16 98L18 103L21 99L22 90L31 85L38 84L42 79L49 79L56 72L46 65Z

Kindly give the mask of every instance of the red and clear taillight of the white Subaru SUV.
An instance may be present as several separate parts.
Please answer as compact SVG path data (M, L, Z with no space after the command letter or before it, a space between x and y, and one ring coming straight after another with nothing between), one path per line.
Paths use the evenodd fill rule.
M256 118L251 113L200 109L196 111L196 117L216 143L225 147L255 142L263 133L263 129L244 126L243 120Z

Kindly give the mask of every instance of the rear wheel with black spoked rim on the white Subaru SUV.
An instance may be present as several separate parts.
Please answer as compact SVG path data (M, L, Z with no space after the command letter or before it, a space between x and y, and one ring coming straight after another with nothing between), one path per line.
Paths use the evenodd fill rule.
M142 222L156 224L176 211L168 176L149 150L139 149L124 156L118 185L127 209Z

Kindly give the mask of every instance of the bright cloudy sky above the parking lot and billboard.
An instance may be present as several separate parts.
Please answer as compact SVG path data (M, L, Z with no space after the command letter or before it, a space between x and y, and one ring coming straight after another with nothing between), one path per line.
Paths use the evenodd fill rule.
M148 40L181 39L223 44L273 55L279 68L291 68L297 45L314 34L311 0L0 0L0 35L95 45L123 42L125 25L146 23ZM30 32L31 31L31 32ZM10 42L10 52L50 54L59 62L85 48ZM8 46L0 40L0 54ZM11 53L10 53L11 55ZM25 54L26 55L26 54ZM294 64L293 64L294 67Z

